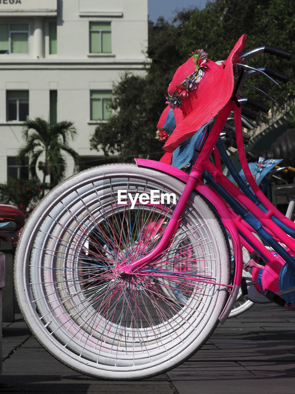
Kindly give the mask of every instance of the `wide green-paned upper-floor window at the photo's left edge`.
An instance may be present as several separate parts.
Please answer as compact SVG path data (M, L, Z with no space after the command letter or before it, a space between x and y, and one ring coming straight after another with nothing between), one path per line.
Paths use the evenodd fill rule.
M0 54L29 53L29 24L0 24Z

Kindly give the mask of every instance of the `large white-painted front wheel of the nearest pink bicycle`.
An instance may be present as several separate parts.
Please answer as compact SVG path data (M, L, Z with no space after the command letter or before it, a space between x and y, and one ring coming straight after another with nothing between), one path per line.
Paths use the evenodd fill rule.
M116 270L157 245L183 189L154 170L106 165L68 178L35 208L18 242L16 292L31 331L59 361L94 377L142 379L179 365L210 336L228 297L230 262L199 195L157 260L130 275ZM142 203L136 193L145 193Z

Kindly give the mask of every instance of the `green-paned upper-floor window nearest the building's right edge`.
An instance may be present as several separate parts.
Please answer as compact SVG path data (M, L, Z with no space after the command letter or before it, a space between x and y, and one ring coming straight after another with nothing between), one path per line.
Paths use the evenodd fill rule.
M90 53L111 53L111 22L90 22Z

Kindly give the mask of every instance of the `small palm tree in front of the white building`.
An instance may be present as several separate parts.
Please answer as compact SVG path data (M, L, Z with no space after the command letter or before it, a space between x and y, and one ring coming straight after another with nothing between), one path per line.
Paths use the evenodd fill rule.
M62 121L50 125L42 118L28 119L24 122L22 136L26 142L18 151L20 162L29 157L29 170L32 178L37 178L36 166L41 155L45 161L38 162L38 168L43 172L43 182L50 175L51 186L57 185L65 178L66 161L63 152L74 159L74 171L78 170L79 154L68 145L69 138L77 134L72 122Z

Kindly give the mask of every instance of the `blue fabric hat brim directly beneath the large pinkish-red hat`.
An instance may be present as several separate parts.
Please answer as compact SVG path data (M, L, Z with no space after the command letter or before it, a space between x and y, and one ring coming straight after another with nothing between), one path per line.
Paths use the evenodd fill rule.
M173 167L183 168L188 165L188 163L192 162L194 155L197 154L196 149L199 150L199 146L203 140L204 131L210 122L211 121L202 126L191 138L186 139L186 141L182 142L181 145L175 149L172 156Z

